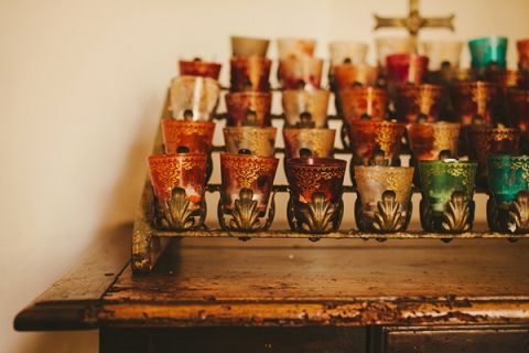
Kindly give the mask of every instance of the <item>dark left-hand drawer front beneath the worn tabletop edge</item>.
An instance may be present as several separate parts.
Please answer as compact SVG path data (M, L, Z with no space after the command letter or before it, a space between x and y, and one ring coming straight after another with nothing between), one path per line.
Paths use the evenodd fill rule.
M193 328L101 329L101 353L356 353L366 329Z

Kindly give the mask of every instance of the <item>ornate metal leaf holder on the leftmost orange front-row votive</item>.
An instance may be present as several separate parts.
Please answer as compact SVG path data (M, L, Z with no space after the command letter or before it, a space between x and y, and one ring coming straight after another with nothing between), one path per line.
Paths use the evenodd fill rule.
M191 202L184 189L174 188L171 196L160 202L156 199L156 216L154 218L155 226L160 229L168 231L191 231L204 224L205 202L201 204L199 221L196 222L196 213L191 207Z

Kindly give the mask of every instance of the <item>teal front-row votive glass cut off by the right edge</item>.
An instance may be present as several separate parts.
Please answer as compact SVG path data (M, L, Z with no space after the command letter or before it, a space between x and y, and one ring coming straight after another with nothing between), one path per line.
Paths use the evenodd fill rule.
M529 156L489 157L487 222L495 232L529 232Z

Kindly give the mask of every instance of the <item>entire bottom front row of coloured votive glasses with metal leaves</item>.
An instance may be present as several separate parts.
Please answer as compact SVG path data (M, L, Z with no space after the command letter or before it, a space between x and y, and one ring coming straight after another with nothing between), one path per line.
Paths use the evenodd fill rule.
M273 221L271 197L279 159L220 153L220 227L231 232L267 231ZM199 229L205 220L207 154L175 153L149 158L155 200L153 226L162 231ZM477 164L456 159L420 161L424 231L463 233L472 229ZM285 162L290 200L287 212L292 231L325 234L339 228L344 214L343 182L346 161L294 158ZM488 160L490 229L529 232L529 157L494 156ZM393 233L407 229L412 206L413 167L388 167L375 154L368 165L354 165L359 231ZM272 199L272 200L270 200Z

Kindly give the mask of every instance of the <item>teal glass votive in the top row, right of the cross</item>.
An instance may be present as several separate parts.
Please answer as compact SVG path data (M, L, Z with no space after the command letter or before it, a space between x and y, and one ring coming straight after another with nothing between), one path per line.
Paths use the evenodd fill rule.
M483 69L494 64L498 68L505 69L507 66L507 44L508 41L505 36L483 36L468 41L472 67Z

